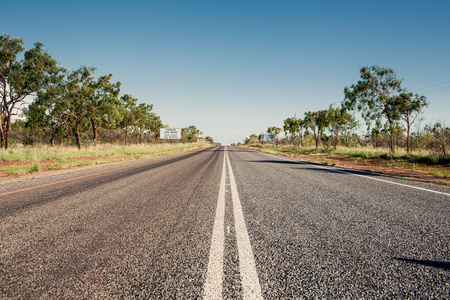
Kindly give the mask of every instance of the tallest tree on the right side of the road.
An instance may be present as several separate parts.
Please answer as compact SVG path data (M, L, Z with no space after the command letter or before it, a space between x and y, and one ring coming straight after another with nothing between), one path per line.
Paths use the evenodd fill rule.
M390 149L394 152L395 127L400 118L396 98L402 91L402 81L396 78L393 69L380 66L363 67L360 74L361 80L357 84L345 87L342 105L350 109L356 107L369 127L373 121L381 122L385 118Z

